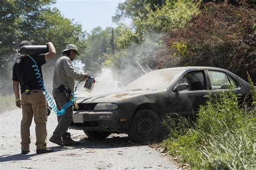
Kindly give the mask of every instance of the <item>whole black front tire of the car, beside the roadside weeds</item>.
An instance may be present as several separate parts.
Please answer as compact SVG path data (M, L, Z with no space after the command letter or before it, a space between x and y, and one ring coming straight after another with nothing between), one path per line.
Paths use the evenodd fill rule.
M136 142L157 139L161 132L160 118L151 110L142 109L134 113L128 130L129 138Z

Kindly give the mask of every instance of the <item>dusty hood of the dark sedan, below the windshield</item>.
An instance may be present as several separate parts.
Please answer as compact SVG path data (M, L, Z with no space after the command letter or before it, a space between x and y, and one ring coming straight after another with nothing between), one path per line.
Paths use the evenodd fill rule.
M120 100L157 93L158 91L124 91L83 98L77 103L118 103Z

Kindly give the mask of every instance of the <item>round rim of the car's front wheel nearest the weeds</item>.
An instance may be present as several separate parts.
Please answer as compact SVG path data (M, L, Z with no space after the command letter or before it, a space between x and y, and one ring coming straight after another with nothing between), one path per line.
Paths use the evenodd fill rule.
M154 122L150 118L141 118L137 123L137 132L144 138L150 137L154 132Z

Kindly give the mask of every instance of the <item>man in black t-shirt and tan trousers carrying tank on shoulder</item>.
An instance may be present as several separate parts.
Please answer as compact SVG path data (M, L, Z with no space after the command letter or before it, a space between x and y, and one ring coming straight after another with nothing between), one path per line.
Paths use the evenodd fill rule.
M28 41L23 41L19 47L23 45L31 45ZM39 74L41 74L42 82L43 82L43 74L42 74L42 65L46 63L46 61L55 57L56 51L55 47L51 42L46 43L48 46L48 52L45 54L37 54L31 56L39 70ZM52 148L46 148L46 139L47 139L47 131L46 131L46 121L47 121L47 105L46 100L43 94L43 90L41 90L41 83L38 81L38 75L36 75L36 67L32 67L35 65L33 60L30 57L21 58L20 63L15 63L12 71L12 80L13 80L13 89L16 98L16 106L22 108L22 121L21 121L21 149L22 154L28 154L30 152L30 125L32 122L32 118L34 117L34 121L36 124L36 153L49 153L53 152ZM19 98L19 85L21 86L21 99Z

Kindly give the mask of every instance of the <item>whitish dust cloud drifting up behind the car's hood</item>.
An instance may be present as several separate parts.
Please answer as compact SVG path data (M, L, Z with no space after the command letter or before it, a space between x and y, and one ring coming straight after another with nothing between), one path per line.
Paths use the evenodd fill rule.
M114 93L124 89L133 80L157 69L155 56L163 49L162 35L151 34L146 36L142 44L133 44L125 52L117 52L118 60L110 68L103 67L100 73L96 74L95 86L91 93L86 92L81 83L78 89L78 97L96 96L98 94ZM86 68L86 66L85 66ZM87 71L85 71L87 72Z

